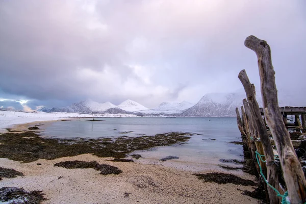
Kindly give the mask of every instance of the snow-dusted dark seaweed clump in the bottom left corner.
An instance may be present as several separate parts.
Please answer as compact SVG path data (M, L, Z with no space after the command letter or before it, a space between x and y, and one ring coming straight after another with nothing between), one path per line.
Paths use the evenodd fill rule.
M23 188L3 187L0 189L0 201L11 204L39 204L46 200L42 191L25 191Z

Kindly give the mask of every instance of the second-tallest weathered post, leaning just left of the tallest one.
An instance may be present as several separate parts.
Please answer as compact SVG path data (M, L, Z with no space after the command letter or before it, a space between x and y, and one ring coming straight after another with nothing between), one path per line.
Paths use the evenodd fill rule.
M260 140L263 145L265 158L266 158L266 167L267 167L267 181L274 188L278 189L278 175L277 175L277 166L274 163L274 153L272 145L270 143L270 138L267 132L266 125L261 116L259 105L255 96L254 85L252 85L247 77L246 71L243 69L239 72L238 78L241 81L245 93L247 95L247 101L250 108L250 113L253 117L254 128L258 130ZM276 192L268 187L270 203L278 203L278 197Z

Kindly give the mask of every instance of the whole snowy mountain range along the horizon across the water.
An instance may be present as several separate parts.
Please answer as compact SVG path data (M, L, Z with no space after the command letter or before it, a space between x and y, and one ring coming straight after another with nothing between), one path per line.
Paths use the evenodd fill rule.
M137 116L170 117L235 117L236 107L242 106L243 93L210 93L204 95L197 104L187 101L163 102L154 109L148 109L136 101L127 99L118 106L106 102L82 100L64 108L42 108L42 112L73 112L83 114L132 114ZM261 97L258 97L261 101ZM261 103L260 103L261 106Z

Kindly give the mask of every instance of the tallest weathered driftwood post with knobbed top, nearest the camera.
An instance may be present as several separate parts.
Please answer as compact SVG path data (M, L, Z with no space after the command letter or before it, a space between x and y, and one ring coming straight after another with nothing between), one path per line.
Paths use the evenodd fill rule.
M300 162L295 155L289 132L279 111L270 46L266 41L255 36L247 37L244 44L253 50L258 58L264 114L281 161L290 203L304 203L306 202L306 181ZM264 143L264 141L262 142Z

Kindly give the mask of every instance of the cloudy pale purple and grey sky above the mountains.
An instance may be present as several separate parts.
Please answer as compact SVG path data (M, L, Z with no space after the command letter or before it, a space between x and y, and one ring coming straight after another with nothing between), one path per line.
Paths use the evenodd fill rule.
M306 106L305 11L303 0L0 1L0 108L197 103L242 91L242 69L259 90L249 35L271 46L282 100Z

